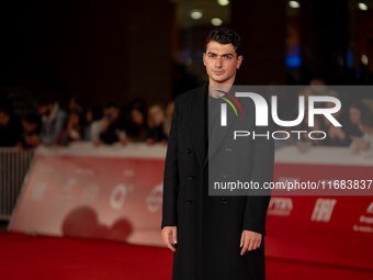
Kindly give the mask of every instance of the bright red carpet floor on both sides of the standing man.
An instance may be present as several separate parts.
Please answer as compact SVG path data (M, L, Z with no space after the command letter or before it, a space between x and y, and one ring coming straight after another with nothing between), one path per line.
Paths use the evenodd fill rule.
M371 280L373 271L267 259L268 280ZM0 279L171 279L166 248L0 232ZM230 280L230 279L227 279Z

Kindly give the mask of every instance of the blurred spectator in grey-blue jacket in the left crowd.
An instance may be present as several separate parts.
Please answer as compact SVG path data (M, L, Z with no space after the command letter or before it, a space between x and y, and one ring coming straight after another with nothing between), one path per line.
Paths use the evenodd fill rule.
M37 111L42 115L42 144L54 145L64 130L67 114L49 94L38 99Z

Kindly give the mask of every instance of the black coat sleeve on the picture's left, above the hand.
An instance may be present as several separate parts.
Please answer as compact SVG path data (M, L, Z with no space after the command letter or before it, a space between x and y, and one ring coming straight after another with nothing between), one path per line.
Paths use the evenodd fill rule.
M178 116L179 109L177 97L174 100L170 136L166 154L161 228L163 228L165 226L177 226L178 224L177 221L177 187L179 186Z

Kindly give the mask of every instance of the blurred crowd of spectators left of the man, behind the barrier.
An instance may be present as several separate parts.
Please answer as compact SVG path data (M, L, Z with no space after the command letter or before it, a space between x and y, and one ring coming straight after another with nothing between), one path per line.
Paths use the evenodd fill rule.
M163 143L171 126L173 101L166 107L147 107L134 100L120 108L115 102L86 108L84 100L72 97L68 110L52 94L37 99L37 113L19 117L10 105L0 105L0 146L33 148L39 144L67 146L71 142L91 142L95 146L121 142Z

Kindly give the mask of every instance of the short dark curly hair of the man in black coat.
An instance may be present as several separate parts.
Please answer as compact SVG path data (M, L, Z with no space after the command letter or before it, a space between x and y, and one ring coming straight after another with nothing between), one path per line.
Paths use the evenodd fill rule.
M228 29L217 29L217 30L213 30L210 32L206 41L205 41L205 45L204 45L204 52L206 53L207 49L207 44L210 42L216 42L219 43L222 45L226 45L226 44L231 44L237 53L237 56L242 55L241 53L241 37L234 31L228 30Z

